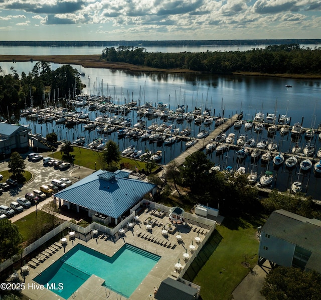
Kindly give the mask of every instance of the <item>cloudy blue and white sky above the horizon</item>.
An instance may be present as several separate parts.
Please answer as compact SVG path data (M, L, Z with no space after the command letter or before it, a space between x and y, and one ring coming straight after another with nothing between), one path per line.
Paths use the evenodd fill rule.
M0 0L2 41L319 39L321 0Z

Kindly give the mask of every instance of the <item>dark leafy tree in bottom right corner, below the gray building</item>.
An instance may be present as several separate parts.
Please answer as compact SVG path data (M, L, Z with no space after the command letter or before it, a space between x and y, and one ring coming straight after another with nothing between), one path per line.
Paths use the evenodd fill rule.
M267 274L261 294L266 300L318 300L321 298L321 274L277 267Z

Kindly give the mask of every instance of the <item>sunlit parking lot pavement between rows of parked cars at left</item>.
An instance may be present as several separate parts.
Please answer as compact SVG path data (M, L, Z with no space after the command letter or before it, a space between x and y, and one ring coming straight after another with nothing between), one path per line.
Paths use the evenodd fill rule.
M3 194L0 195L0 205L4 204L10 206L10 203L16 201L18 197L25 197L26 193L32 192L33 190L39 190L41 185L49 184L53 179L67 177L72 183L75 183L93 172L93 170L82 167L79 168L79 166L70 167L67 170L61 171L58 167L44 165L43 160L32 162L31 160L28 160L27 155L28 154L23 155L26 165L25 170L32 173L32 179L24 185L19 184L9 191L4 191ZM46 157L46 154L42 155ZM9 170L8 161L0 163L0 174L5 170ZM5 182L5 180L2 180L2 182ZM26 211L28 210L31 211L32 209L27 209Z

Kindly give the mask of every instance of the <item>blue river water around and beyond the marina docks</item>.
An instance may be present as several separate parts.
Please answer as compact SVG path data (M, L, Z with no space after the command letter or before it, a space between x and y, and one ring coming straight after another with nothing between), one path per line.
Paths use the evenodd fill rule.
M24 47L20 48L20 54L23 54ZM38 47L33 52L38 53ZM39 47L46 48L46 47ZM57 47L47 47L55 48ZM62 47L64 48L64 47ZM83 48L83 47L79 47ZM95 47L93 47L95 48ZM70 54L74 54L74 49L70 49ZM17 49L16 49L17 51ZM18 51L19 52L19 51ZM17 52L17 54L18 54ZM86 51L85 51L86 52ZM4 54L4 53L3 53ZM25 53L24 53L25 54ZM48 53L40 53L48 54ZM52 53L51 53L52 54ZM54 54L57 54L55 52ZM66 54L66 53L64 53ZM91 54L90 51L83 54ZM7 74L9 74L10 67L14 67L18 74L22 71L29 73L34 63L31 62L18 62L18 63L3 63L0 66ZM51 64L52 69L58 68L59 64ZM295 122L303 122L303 127L317 128L320 123L320 95L321 95L321 80L301 80L301 79L284 79L273 77L252 77L252 76L216 76L216 75L192 75L192 74L167 74L167 73L133 73L121 70L108 70L108 69L95 69L84 68L81 66L73 66L79 71L84 72L85 76L82 77L83 83L86 84L84 93L95 95L110 95L116 104L124 104L129 100L136 100L140 105L146 101L152 102L154 105L158 102L166 103L171 109L175 109L178 105L185 105L188 111L192 111L194 107L201 107L202 111L209 108L212 115L218 116L224 114L224 117L229 117L236 112L243 111L244 119L253 119L256 112L263 111L267 113L275 113L277 116L287 114L291 117L291 125ZM285 85L291 85L287 88ZM56 91L57 97L57 91ZM126 99L126 100L125 100ZM29 105L27 99L27 104ZM11 115L10 107L2 107L2 114L6 117ZM83 109L87 111L87 108ZM92 120L102 114L99 111L90 111L89 116ZM132 119L132 124L137 120L136 112L131 111L128 117ZM46 135L49 132L55 131L59 139L75 140L78 136L83 135L86 137L86 144L92 141L93 138L98 137L99 134L96 130L84 130L83 124L76 125L75 127L66 128L64 125L56 125L55 122L38 124L21 118L20 122L29 124L33 133L41 133ZM159 118L146 120L147 126L152 122L161 123L163 120ZM171 124L173 121L168 121ZM176 123L173 126L180 127L182 130L186 126L191 126L192 136L196 136L204 125L196 125L194 122ZM214 123L209 130L214 129ZM245 132L244 126L240 130L235 130L233 127L230 132L234 132L235 136L246 134L248 137L253 137L255 140L260 140L267 137L267 131L258 135L254 130ZM229 133L229 132L227 132ZM105 140L111 138L115 140L120 151L130 144L134 144L137 149L151 149L153 152L161 149L163 151L162 164L170 162L177 157L182 151L185 151L185 141L179 141L171 146L164 144L157 144L154 142L134 141L129 138L117 138L117 133L112 133L108 136L103 136ZM294 143L291 141L290 135L281 136L279 132L276 133L275 142L278 144L278 151L289 152ZM304 146L307 141L302 137L299 144ZM315 144L318 149L321 146L317 135L312 139L311 143ZM287 170L284 166L278 170L274 170L272 162L268 165L262 165L260 161L253 163L248 156L242 162L237 162L236 152L230 149L222 155L216 155L215 152L208 155L208 158L215 164L220 164L221 169L226 166L232 166L237 169L240 166L246 167L247 172L252 169L257 171L258 174L264 173L266 170L273 171L274 178L272 186L281 191L286 191L290 188L291 182L297 180L299 167L293 170ZM137 163L139 164L139 163ZM303 182L303 191L311 195L315 199L321 200L319 189L317 185L321 179L316 178L313 172L300 174L300 180Z

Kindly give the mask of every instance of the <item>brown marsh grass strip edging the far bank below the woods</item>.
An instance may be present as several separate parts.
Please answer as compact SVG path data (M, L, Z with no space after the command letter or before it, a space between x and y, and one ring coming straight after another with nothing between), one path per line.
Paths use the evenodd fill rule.
M131 72L155 72L155 73L183 73L183 74L201 74L198 71L188 69L155 69L146 66L137 66L126 63L107 62L100 60L100 55L0 55L0 62L28 62L28 61L46 61L57 64L81 65L84 68L102 68L115 70L128 70ZM235 72L234 75L243 76L268 76L297 79L321 79L320 74L263 74L255 72Z

